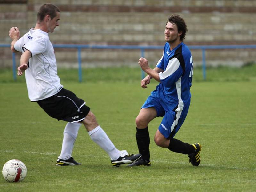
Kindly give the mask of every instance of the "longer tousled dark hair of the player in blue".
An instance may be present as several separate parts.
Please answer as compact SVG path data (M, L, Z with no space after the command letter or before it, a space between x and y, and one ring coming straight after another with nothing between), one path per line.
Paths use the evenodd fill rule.
M182 34L180 35L180 41L183 41L185 39L186 32L188 31L187 25L186 25L184 19L182 17L180 17L180 15L175 14L168 18L166 24L168 22L177 25L178 32L182 32Z

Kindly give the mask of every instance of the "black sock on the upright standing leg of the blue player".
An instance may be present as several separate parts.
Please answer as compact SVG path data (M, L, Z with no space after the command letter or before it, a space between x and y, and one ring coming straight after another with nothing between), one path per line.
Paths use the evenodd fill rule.
M149 161L150 158L150 152L149 152L149 133L148 133L148 127L145 129L138 129L136 127L136 140L137 145L139 149L139 153L142 155L141 158L143 160Z

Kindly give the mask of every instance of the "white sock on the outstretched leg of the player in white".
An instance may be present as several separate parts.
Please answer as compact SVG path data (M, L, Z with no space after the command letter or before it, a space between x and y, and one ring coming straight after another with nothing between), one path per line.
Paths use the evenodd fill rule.
M112 160L119 158L121 152L115 147L100 125L94 128L92 131L89 131L88 134L95 143L97 143L108 153Z

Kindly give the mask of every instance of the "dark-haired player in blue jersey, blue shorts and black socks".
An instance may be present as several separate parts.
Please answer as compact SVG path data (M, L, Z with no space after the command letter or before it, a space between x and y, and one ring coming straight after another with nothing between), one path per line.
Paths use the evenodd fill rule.
M190 50L183 43L187 31L182 17L170 16L164 31L166 44L163 56L156 67L151 69L148 60L142 57L139 59L141 69L148 74L141 81L141 87L147 88L152 78L159 84L151 92L136 118L136 140L142 157L128 166L151 165L148 124L159 116L163 119L154 137L156 145L176 153L187 154L193 166L200 163L199 143L190 145L173 138L187 116L191 98L193 60Z

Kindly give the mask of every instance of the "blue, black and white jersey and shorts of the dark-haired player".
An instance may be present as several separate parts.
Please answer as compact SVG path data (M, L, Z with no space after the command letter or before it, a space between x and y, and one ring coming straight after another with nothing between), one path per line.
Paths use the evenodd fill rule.
M191 52L184 43L172 51L169 43L156 67L160 83L151 92L141 108L154 107L157 116L163 116L158 129L165 138L173 138L183 124L190 105L190 87L192 85L193 62Z

